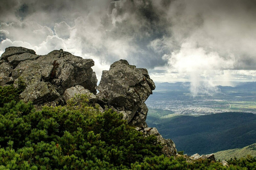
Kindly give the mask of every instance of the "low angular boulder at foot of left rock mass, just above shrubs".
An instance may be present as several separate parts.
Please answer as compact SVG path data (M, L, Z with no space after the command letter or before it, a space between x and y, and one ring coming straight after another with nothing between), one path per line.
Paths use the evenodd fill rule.
M60 96L49 82L38 82L25 89L20 94L23 101L33 101L34 104L43 104L49 101L54 101Z

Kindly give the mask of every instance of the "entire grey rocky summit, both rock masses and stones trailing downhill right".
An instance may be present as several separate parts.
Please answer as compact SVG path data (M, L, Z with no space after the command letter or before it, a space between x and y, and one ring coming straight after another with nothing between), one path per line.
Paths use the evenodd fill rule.
M163 139L156 128L149 128L145 122L145 101L155 89L147 69L136 68L121 59L103 71L97 86L92 66L92 59L62 49L37 55L24 47L8 47L0 58L0 85L22 88L20 98L36 105L65 105L75 94L85 94L101 111L111 108L122 113L123 119L145 136L155 135L163 144L165 155L176 155L173 141Z

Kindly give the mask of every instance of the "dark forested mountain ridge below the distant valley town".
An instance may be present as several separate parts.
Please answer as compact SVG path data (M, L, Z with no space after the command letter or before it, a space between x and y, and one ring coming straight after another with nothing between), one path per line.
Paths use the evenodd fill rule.
M184 150L188 155L242 148L256 142L256 115L251 113L226 112L164 119L149 113L147 123L156 127L163 137L172 139L177 150Z

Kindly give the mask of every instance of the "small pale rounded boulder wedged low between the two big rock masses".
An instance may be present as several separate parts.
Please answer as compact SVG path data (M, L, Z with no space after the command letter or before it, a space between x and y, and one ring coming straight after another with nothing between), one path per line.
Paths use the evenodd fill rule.
M75 94L85 94L88 97L89 102L96 101L96 96L81 85L76 85L75 87L66 89L63 94L63 98L67 102L69 99L74 98Z

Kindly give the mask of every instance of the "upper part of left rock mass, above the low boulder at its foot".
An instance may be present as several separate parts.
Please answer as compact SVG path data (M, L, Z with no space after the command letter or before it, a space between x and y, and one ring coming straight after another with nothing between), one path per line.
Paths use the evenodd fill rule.
M0 73L23 79L28 88L39 81L50 82L61 95L68 88L82 85L96 94L97 78L92 70L94 61L83 59L63 50L53 50L47 55L36 55L34 50L8 47L1 57ZM13 68L14 69L13 69Z

